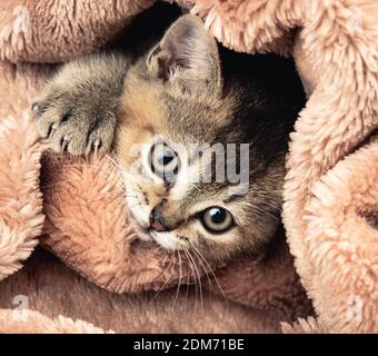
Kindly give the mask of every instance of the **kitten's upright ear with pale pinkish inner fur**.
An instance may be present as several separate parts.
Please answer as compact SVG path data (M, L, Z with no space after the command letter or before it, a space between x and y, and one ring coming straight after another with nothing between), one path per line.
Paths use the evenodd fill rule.
M198 17L178 19L149 53L147 65L153 76L183 91L221 90L217 42Z

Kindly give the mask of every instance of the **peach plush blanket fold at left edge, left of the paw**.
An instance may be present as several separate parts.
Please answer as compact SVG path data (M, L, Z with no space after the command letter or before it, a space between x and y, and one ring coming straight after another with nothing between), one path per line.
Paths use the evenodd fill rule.
M0 63L0 280L22 267L44 221L39 189L42 148L27 105L34 82L28 73L26 67ZM19 97L19 85L27 91L24 98Z

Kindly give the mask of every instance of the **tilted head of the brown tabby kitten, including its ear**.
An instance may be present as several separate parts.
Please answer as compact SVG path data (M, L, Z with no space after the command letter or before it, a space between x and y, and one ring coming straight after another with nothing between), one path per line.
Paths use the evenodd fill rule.
M261 63L226 80L216 41L185 16L130 69L116 151L140 237L223 259L272 236L300 105Z

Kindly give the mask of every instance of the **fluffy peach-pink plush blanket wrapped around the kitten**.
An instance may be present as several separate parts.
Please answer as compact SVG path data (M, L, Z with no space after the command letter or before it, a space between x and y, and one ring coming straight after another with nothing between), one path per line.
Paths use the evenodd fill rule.
M140 293L192 281L209 274L208 266L199 264L193 271L183 261L180 268L175 256L136 241L127 225L120 176L109 157L84 160L43 154L29 112L33 96L54 70L47 63L100 49L152 2L12 0L0 4L0 307L10 308L9 300L24 294L31 296L36 310L26 325L13 320L12 310L1 310L0 332L157 330L143 323L152 325L159 314L161 330L168 326L186 332L277 332L278 322L287 322L285 332L378 332L375 1L177 1L200 16L209 32L231 49L292 53L308 95L291 135L285 185L284 222L295 264L278 234L267 255L217 266L221 267L216 273L219 285L233 301L215 301L203 293L208 314L202 328L190 322L197 310L191 301L186 310L173 307L161 316L176 288L152 306ZM56 261L41 261L38 254L18 271L39 241L83 278L62 265L40 271L39 261L51 266ZM47 278L43 270L50 275L48 290L41 287ZM315 318L308 317L312 309L297 273ZM108 291L99 291L86 279ZM28 280L33 281L22 289ZM88 313L81 314L80 308L64 308L63 301L59 306L54 294L72 284L87 300L123 310L123 324L112 325L106 308L103 317L96 318L98 310L88 306ZM93 299L98 294L102 299ZM145 312L145 318L132 310ZM222 316L221 326L217 314ZM298 317L308 318L292 324ZM71 318L83 318L101 329ZM180 329L182 319L188 325ZM177 327L169 329L169 325Z

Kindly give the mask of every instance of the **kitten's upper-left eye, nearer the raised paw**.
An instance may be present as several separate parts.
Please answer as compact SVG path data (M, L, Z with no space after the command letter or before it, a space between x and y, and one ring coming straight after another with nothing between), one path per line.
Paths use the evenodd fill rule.
M169 180L179 170L179 157L168 145L159 142L151 149L151 169L159 177Z

